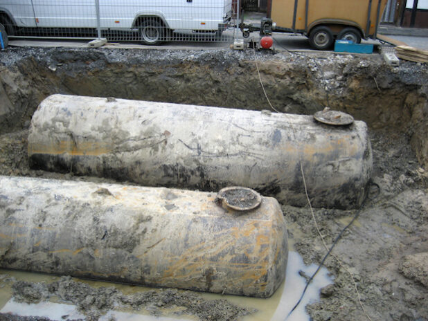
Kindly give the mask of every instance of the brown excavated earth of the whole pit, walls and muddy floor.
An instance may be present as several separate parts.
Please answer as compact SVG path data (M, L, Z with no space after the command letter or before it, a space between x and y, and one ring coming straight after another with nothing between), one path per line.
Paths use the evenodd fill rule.
M373 185L353 223L326 267L335 283L321 292L321 301L307 306L313 320L428 320L428 107L426 65L404 62L398 68L381 57L332 53L296 55L229 51L86 51L13 49L1 53L0 174L84 181L102 178L55 174L28 167L26 155L30 116L51 93L185 102L241 109L268 109L255 61L274 106L280 111L313 113L329 105L365 120L373 147ZM283 204L289 239L306 264L319 264L326 249L308 208ZM355 211L315 209L328 246ZM423 254L425 253L425 254ZM66 282L69 286L62 286ZM140 300L99 290L84 305L82 289L69 278L54 286L15 284L17 299L34 302L46 295L80 304L89 318L105 311L104 303ZM71 285L70 285L71 284ZM62 288L60 294L58 288ZM79 288L79 289L77 289ZM36 292L34 292L36 291ZM39 292L37 292L39 291ZM86 288L85 291L95 291ZM36 293L36 295L34 295ZM244 311L225 302L192 305L198 294L161 291L145 308L177 304L200 320L239 320ZM128 301L127 301L128 300ZM199 300L200 301L200 300ZM203 301L203 300L202 300ZM204 304L204 303L202 303ZM108 306L108 305L107 305ZM98 309L99 308L99 309ZM158 310L157 310L158 309ZM157 312L158 311L158 312ZM198 311L203 311L199 313ZM98 313L98 314L97 314ZM213 318L208 318L212 316ZM9 317L0 317L9 318Z

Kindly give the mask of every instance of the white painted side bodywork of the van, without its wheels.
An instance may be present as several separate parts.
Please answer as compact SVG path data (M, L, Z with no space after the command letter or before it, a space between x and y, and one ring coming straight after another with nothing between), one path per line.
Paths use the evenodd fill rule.
M96 28L94 0L3 0L18 26ZM33 12L34 8L34 12ZM136 17L161 17L171 29L217 30L232 0L100 0L101 28L134 28ZM37 21L37 23L36 23Z

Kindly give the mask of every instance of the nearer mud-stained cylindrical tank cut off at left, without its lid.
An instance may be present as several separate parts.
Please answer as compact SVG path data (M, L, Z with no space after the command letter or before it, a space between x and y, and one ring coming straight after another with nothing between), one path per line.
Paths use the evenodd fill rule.
M269 297L287 228L278 201L260 201L238 211L208 192L0 176L0 267Z

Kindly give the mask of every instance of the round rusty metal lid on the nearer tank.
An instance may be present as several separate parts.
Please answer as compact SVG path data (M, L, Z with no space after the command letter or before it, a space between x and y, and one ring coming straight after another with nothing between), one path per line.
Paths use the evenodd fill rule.
M221 201L223 206L232 210L247 211L258 208L262 203L262 196L251 188L231 186L220 190L215 201Z

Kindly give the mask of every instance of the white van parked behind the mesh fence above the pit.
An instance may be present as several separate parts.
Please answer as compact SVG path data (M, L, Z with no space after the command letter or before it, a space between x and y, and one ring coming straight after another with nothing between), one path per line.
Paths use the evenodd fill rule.
M35 34L57 28L96 28L95 0L0 0L0 31ZM231 20L232 0L99 0L100 27L138 33L145 44L173 30L220 32ZM46 35L46 34L45 34Z

